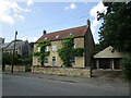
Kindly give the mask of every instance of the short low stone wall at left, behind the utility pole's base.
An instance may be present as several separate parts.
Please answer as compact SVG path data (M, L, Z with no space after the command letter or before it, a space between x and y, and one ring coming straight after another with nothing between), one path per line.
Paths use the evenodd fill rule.
M11 72L12 66L11 65L5 65L5 72ZM13 66L14 72L25 72L25 66L22 65L14 65Z

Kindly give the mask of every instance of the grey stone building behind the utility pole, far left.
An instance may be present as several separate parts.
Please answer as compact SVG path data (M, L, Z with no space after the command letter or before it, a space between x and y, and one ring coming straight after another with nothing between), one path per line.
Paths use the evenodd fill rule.
M14 40L9 42L4 48L3 48L3 52L9 52L9 53L13 53L13 49L14 49ZM29 52L29 45L28 41L25 40L15 40L15 53L19 56L19 58L23 58L24 56L28 56Z

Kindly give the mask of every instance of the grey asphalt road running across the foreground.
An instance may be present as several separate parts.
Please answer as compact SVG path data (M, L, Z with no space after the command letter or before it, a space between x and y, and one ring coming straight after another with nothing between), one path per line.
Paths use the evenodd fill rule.
M3 96L129 96L128 88L3 74Z

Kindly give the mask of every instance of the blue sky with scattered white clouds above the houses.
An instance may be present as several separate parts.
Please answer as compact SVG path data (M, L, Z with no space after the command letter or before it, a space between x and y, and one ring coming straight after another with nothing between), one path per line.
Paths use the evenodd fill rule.
M91 28L95 42L98 42L100 22L96 20L97 11L106 11L102 2L14 2L0 0L0 36L5 41L17 39L36 41L43 30L47 33L86 25Z

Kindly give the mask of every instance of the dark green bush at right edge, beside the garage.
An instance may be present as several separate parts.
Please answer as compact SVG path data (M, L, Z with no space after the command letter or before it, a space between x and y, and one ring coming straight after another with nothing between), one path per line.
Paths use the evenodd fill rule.
M126 54L123 59L120 60L120 68L126 81L131 82L131 53Z

